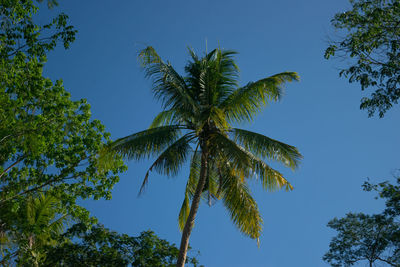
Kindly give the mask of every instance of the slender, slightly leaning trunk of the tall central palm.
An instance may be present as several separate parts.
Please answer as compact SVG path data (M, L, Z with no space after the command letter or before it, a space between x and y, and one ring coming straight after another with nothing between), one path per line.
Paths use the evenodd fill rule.
M201 193L203 192L204 185L206 184L207 177L207 164L208 164L208 151L207 146L202 147L201 153L201 169L199 182L196 187L196 192L194 193L192 205L190 207L189 216L186 220L185 227L183 228L181 246L179 249L178 261L176 263L177 267L184 267L186 261L187 249L189 246L189 237L193 229L194 219L196 217L197 210L200 204Z

